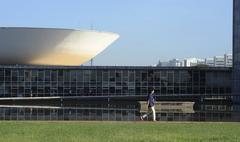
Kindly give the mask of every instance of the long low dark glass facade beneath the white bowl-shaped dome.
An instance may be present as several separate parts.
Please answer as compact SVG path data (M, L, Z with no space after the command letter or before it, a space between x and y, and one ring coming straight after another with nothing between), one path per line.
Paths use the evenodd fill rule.
M231 96L231 68L1 66L0 97Z

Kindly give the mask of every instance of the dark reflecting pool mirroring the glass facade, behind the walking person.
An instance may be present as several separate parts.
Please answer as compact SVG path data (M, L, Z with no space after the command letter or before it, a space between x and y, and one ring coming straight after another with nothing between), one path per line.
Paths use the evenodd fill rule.
M1 105L0 120L88 120L88 121L135 121L141 113L136 102L103 103L78 102L52 106ZM195 104L190 110L174 106L156 110L158 121L240 121L240 106L227 104ZM150 115L146 120L151 121Z

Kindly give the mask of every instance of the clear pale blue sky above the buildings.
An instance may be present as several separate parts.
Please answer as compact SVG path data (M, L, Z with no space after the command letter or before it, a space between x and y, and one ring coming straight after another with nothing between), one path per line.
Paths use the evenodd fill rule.
M0 0L0 26L93 29L121 37L95 65L153 65L232 51L232 0Z

